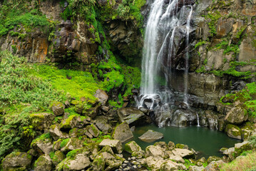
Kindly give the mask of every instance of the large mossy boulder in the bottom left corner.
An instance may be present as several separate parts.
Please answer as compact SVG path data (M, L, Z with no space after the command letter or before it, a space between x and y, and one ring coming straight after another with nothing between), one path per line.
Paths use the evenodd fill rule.
M5 171L22 171L31 165L32 156L26 152L11 152L2 160L2 167Z

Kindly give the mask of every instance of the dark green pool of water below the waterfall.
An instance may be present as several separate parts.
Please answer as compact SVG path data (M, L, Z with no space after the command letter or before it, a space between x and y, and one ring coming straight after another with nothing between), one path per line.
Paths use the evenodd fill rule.
M140 145L140 147L145 150L145 147L148 145L153 145L155 142L143 142L138 137L143 135L147 130L155 130L157 132L163 133L164 138L157 140L165 141L168 143L169 141L173 141L175 144L181 143L188 145L188 147L193 148L194 150L200 152L200 156L209 157L210 155L216 155L221 157L221 153L219 152L222 147L233 147L235 143L241 142L240 140L235 140L229 138L225 133L222 133L217 130L210 130L208 128L190 126L185 128L177 128L177 127L164 127L158 128L157 126L145 125L136 127L133 132L135 142Z

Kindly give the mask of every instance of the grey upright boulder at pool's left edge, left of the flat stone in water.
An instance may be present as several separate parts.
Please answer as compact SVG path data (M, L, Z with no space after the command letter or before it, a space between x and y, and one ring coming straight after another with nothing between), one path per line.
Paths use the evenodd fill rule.
M125 142L133 138L133 133L130 131L128 123L121 123L116 126L113 132L113 139Z

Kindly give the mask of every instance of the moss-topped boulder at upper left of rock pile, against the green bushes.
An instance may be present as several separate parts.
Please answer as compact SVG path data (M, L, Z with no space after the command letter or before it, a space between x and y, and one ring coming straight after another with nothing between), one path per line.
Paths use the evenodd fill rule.
M33 113L30 115L30 118L31 125L35 130L44 130L51 126L55 115L51 113Z

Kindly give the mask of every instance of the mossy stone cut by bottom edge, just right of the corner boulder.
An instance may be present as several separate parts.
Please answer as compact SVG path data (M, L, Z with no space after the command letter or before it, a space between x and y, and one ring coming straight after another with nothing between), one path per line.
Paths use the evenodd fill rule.
M35 171L45 171L52 169L52 160L49 155L41 155L35 162Z

